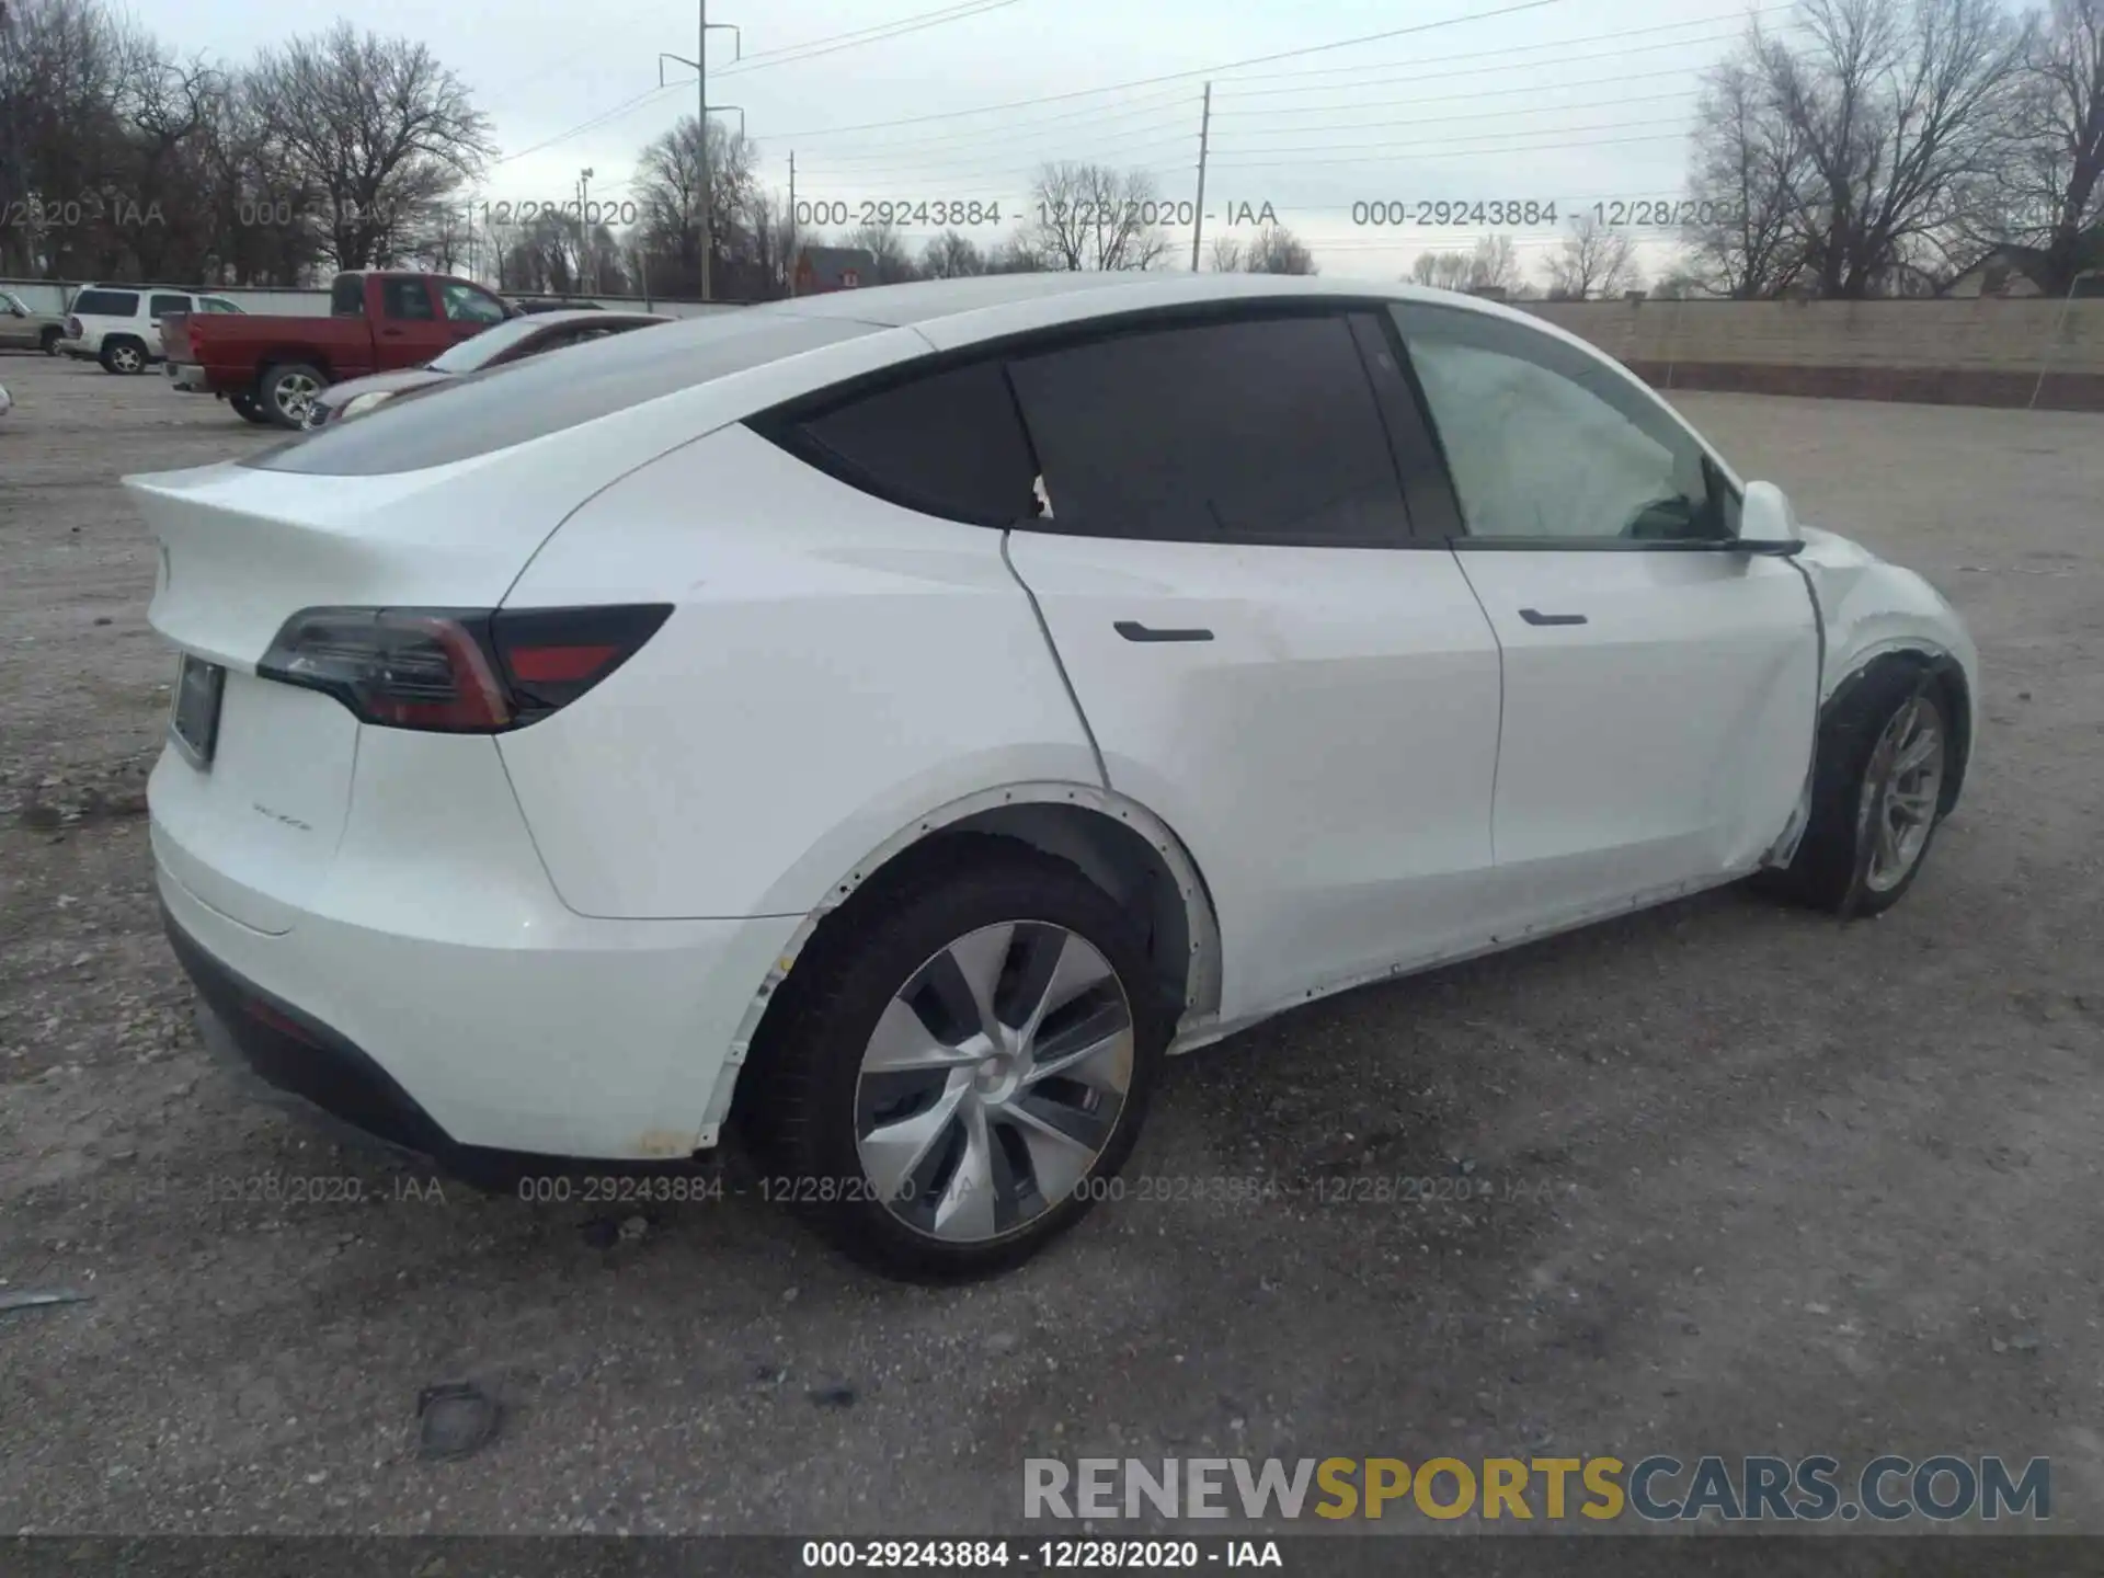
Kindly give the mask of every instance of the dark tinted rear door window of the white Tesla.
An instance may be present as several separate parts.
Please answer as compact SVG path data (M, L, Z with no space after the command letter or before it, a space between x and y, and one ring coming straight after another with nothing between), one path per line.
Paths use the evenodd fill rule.
M1338 316L1121 332L1012 364L1056 530L1199 543L1408 539Z

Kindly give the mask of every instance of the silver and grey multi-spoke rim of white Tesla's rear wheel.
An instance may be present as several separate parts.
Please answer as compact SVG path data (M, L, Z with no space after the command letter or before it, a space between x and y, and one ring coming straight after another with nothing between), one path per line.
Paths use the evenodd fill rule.
M1096 945L983 926L913 972L863 1048L863 1176L917 1233L1008 1237L1088 1180L1130 1088L1132 1004Z

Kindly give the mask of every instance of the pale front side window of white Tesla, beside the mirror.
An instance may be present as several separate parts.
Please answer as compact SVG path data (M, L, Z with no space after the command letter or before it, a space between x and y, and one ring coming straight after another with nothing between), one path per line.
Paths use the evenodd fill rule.
M1685 543L1736 501L1694 436L1614 368L1483 313L1397 305L1469 537Z

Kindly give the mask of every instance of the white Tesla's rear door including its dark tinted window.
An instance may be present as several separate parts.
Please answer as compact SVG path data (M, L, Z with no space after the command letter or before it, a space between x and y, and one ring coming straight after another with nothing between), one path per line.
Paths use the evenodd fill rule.
M1010 360L1044 511L1010 558L1111 787L1212 888L1225 1018L1483 924L1498 646L1410 530L1384 332L1241 305Z

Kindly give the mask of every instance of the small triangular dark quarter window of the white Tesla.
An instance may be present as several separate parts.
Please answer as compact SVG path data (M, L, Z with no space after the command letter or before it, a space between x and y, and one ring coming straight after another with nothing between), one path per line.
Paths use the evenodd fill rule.
M997 360L924 372L762 431L879 499L1012 526L1035 513L1029 440Z

